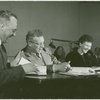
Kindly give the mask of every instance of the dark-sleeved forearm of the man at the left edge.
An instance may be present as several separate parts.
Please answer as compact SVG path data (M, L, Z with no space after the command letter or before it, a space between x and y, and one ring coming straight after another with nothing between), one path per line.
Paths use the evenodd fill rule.
M25 72L21 66L0 71L0 86L16 82L24 78Z

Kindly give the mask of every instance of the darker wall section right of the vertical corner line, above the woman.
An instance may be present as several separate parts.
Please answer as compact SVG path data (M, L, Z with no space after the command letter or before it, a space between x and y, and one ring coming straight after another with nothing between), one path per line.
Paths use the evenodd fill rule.
M93 48L100 47L100 2L80 3L80 35L94 38Z

